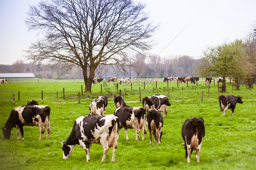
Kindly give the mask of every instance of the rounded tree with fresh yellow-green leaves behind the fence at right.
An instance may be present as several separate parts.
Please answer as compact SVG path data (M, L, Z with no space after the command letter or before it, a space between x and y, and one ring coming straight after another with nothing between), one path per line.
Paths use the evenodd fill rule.
M224 43L216 47L208 47L201 58L202 65L198 65L198 72L201 76L221 76L242 78L247 73L245 65L246 53L242 40L235 40L231 43ZM222 91L225 91L225 81L222 84Z

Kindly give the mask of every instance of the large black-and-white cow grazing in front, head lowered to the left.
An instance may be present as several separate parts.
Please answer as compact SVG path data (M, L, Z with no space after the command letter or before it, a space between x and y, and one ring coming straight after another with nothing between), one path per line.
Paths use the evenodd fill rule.
M71 134L62 142L63 160L67 160L74 150L75 145L80 145L86 152L86 161L90 161L90 150L93 143L103 147L105 161L108 149L113 148L111 162L115 161L118 147L119 119L114 115L97 116L86 115L76 119Z

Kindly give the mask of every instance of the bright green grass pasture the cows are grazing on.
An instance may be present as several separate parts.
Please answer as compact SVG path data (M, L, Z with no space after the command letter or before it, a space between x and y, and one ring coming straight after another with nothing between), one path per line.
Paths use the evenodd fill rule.
M46 80L47 81L47 80ZM26 82L26 80L24 80ZM36 83L35 83L36 82ZM24 126L25 140L16 140L17 130L12 129L10 140L5 140L0 132L0 169L1 170L255 170L256 169L256 87L246 89L245 85L240 90L232 90L227 83L227 92L223 95L240 95L243 104L237 104L234 115L227 110L225 116L220 114L218 100L217 82L210 85L208 96L208 85L205 81L199 81L198 86L188 84L169 83L168 114L164 117L161 144L149 144L148 131L144 140L135 141L135 130L128 130L129 140L125 138L124 130L120 130L118 149L115 163L111 163L112 148L108 150L105 162L101 162L103 155L102 145L93 144L90 152L90 162L86 162L85 151L78 145L68 160L62 159L63 140L67 140L74 121L89 113L89 104L98 95L108 95L107 115L113 114L115 105L113 103L112 91L116 84L103 84L103 91L100 85L92 86L92 93L81 93L81 102L78 103L78 92L81 91L82 82L8 82L1 84L0 90L13 90L15 94L15 106L12 102L0 102L0 126L3 127L7 121L10 111L20 105L26 105L29 100L37 100L39 105L48 105L51 108L50 125L51 133L49 140L46 140L46 133L41 141L39 127ZM227 81L229 82L229 81ZM113 88L112 88L113 85ZM172 87L174 86L174 91ZM193 90L194 86L194 90ZM201 89L201 86L203 89ZM139 102L138 89L141 88L141 98L154 94L167 95L167 83L161 80L157 83L147 83L145 90L143 83L133 84L133 91L130 85L119 85L124 100L129 106L142 106ZM154 87L154 93L153 93ZM164 91L165 87L165 91ZM183 90L182 90L183 87ZM63 88L65 88L65 99L63 99ZM126 89L127 95L124 90ZM107 90L107 91L106 91ZM204 98L201 101L202 90ZM18 92L20 91L20 100ZM43 100L41 99L43 91ZM110 93L108 92L110 91ZM58 92L58 100L56 99ZM113 92L117 95L118 92ZM181 145L181 127L184 120L195 117L202 117L205 120L205 138L202 142L200 162L196 162L195 151L191 155L191 163L184 158L185 150Z

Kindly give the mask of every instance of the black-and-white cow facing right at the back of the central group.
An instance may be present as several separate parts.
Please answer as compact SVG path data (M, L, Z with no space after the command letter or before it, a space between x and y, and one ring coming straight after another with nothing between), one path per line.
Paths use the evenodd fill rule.
M154 108L159 110L161 108L161 105L171 105L167 96L158 94L153 95L152 97L144 97L142 99L142 103L143 108L145 108L146 110Z

